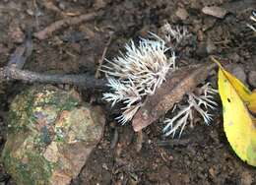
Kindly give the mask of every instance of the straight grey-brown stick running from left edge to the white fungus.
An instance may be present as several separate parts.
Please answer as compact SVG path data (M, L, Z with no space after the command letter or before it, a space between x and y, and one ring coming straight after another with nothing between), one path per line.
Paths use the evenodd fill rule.
M0 83L20 80L27 83L48 83L48 84L69 84L82 89L93 89L98 91L107 90L105 79L95 79L94 76L63 75L63 74L39 74L28 70L21 70L14 67L0 69Z

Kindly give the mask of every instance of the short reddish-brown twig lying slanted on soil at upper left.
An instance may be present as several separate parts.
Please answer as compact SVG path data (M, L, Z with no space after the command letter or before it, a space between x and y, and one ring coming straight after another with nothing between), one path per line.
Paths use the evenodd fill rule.
M78 25L82 22L90 21L95 18L96 18L96 13L93 12L93 13L84 14L84 15L74 17L74 18L63 19L63 20L57 21L57 22L49 25L42 31L35 32L33 35L40 40L46 39L50 34L52 34L53 31L58 31L63 27Z

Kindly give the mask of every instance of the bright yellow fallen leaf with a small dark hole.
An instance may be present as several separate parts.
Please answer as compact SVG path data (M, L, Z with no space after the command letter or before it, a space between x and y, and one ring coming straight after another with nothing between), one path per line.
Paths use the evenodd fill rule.
M238 79L224 70L218 62L219 92L223 102L224 132L235 154L256 166L255 92L250 92Z

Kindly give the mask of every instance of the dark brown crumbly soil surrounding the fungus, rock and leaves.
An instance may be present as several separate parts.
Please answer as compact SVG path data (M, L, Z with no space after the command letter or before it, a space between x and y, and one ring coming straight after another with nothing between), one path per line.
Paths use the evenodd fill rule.
M45 6L45 2L53 2L58 11ZM227 10L224 19L202 13L203 7L213 5ZM118 50L131 38L147 36L148 31L158 32L168 22L186 26L192 33L192 44L177 53L178 61L189 65L209 61L209 55L215 54L239 64L247 75L256 71L256 37L246 27L255 9L255 0L2 0L0 67L7 64L28 31L40 31L64 19L61 13L96 12L98 16L91 22L55 31L48 39L33 38L32 56L25 68L94 75L110 35L108 59L118 55ZM10 101L27 86L31 85L12 82L0 87L1 149ZM100 94L81 92L85 100L101 104L109 112ZM211 126L195 124L185 130L180 140L163 138L162 125L155 123L143 131L139 152L138 136L131 125L118 125L108 113L103 138L72 184L256 184L255 168L242 162L228 145L221 112L220 106ZM114 135L118 136L115 146L111 144ZM2 165L0 181L14 184Z

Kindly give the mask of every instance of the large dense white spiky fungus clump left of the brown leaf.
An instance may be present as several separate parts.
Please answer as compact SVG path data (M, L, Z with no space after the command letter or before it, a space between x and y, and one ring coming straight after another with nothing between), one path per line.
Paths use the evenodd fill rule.
M131 41L124 53L112 61L106 60L107 64L102 66L111 88L111 92L103 93L103 99L112 102L112 106L118 101L125 104L121 116L117 117L122 124L132 119L143 96L154 94L169 70L175 68L175 55L172 53L168 58L167 50L160 37L142 38L138 46Z

